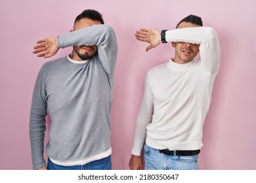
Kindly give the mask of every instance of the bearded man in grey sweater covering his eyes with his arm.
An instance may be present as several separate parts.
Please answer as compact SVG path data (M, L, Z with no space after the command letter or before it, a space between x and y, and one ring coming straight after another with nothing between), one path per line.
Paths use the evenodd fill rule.
M33 53L49 58L68 46L74 46L72 54L45 63L35 82L30 112L33 169L111 169L116 35L99 12L84 10L73 31L37 41ZM46 166L47 112L51 126Z

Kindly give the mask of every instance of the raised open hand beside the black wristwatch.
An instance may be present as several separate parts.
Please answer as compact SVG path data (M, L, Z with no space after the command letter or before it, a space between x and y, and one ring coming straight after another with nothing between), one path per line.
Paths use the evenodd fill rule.
M146 52L152 48L155 48L161 43L161 31L157 29L141 28L140 30L136 31L135 37L139 41L150 43L150 46L146 48Z

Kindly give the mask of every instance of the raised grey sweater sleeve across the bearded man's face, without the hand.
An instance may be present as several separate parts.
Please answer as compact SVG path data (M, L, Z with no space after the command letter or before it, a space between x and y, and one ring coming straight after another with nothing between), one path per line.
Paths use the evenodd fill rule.
M117 59L117 39L110 25L100 24L58 35L58 46L98 46L98 58L106 73L113 78Z

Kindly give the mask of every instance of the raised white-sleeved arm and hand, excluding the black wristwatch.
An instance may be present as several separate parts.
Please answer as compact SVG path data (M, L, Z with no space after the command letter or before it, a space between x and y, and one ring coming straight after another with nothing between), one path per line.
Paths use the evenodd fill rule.
M140 29L135 37L139 41L148 42L146 51L155 48L161 43L161 31L157 29ZM200 44L200 58L205 73L215 75L219 71L220 46L216 31L211 27L186 27L165 32L167 42L190 42Z

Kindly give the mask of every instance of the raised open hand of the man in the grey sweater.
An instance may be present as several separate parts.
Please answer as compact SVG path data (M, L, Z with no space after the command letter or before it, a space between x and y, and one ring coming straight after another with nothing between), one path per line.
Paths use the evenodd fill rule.
M37 41L37 44L37 46L33 47L35 49L33 54L37 54L37 57L50 58L51 56L54 56L60 49L57 44L56 37L41 39Z

